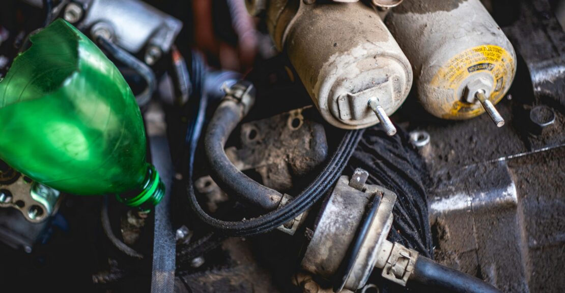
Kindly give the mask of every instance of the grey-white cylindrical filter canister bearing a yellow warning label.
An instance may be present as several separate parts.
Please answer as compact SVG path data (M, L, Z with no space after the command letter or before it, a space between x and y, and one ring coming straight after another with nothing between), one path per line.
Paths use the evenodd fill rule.
M479 116L478 93L496 104L514 80L514 48L479 0L406 0L386 24L414 66L421 104L436 117Z

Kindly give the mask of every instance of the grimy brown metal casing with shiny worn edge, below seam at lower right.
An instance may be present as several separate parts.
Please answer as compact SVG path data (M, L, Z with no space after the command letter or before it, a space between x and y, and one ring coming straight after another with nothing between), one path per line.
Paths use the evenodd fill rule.
M564 164L561 146L451 172L430 202L437 260L504 292L563 292Z

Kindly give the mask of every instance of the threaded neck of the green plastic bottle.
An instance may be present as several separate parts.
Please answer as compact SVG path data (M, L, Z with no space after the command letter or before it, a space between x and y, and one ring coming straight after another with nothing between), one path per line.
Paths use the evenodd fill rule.
M164 193L165 185L159 177L159 172L155 170L155 166L148 164L147 175L142 184L141 192L127 195L117 194L116 198L129 207L138 207L142 211L149 211L159 204Z

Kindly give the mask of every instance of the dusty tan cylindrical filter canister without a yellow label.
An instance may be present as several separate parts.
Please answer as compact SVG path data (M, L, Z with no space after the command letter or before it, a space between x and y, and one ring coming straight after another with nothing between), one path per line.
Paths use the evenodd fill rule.
M332 125L363 128L379 122L375 98L394 113L412 86L408 59L376 11L357 3L271 1L267 24L286 50L308 94Z

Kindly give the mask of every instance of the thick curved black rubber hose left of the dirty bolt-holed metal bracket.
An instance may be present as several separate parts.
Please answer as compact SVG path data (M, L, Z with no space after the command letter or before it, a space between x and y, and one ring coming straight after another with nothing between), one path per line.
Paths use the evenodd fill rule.
M224 151L229 135L243 118L243 105L237 101L224 100L216 109L204 141L206 157L211 169L210 176L221 189L233 194L242 202L264 211L272 211L279 207L282 194L247 177L229 161Z

